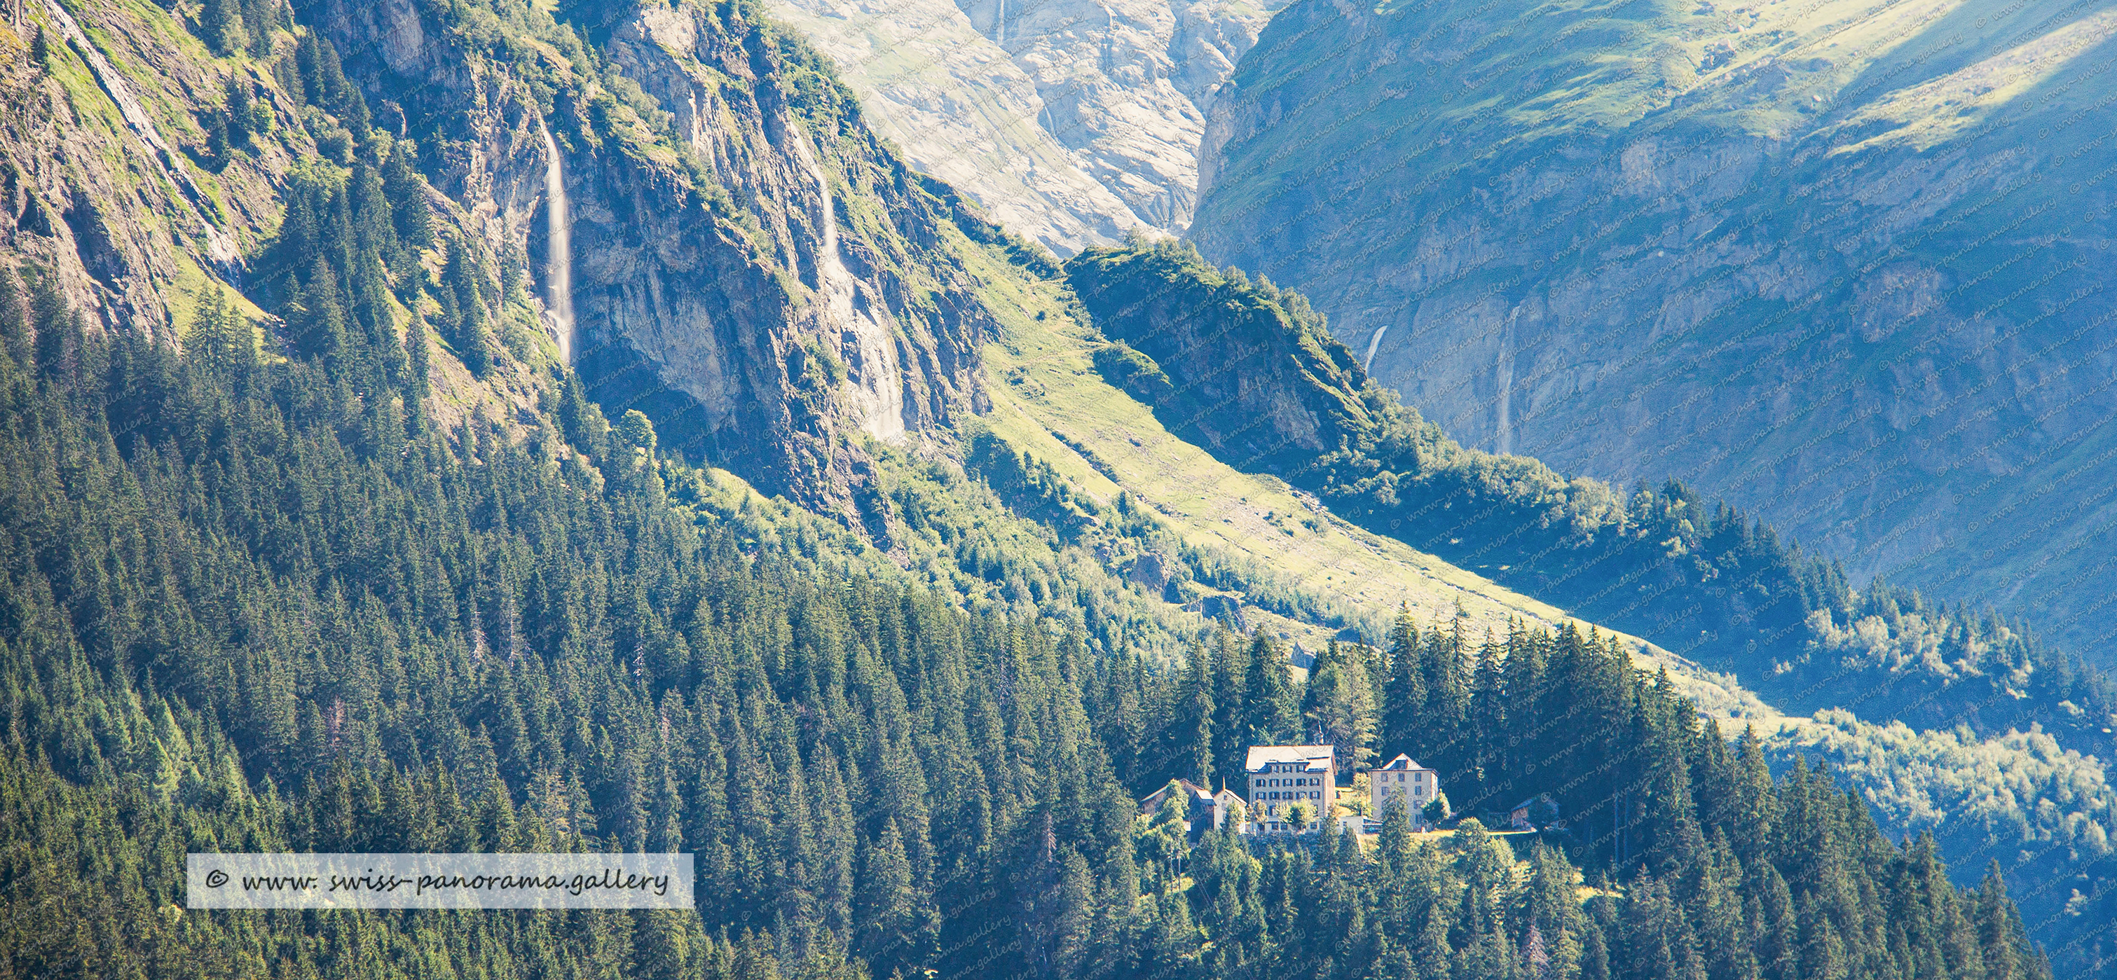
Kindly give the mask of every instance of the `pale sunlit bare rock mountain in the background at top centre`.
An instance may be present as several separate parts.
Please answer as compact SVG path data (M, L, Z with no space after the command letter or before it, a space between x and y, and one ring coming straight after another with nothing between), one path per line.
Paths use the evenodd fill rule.
M1213 91L1285 0L779 0L879 133L1058 254L1181 233Z

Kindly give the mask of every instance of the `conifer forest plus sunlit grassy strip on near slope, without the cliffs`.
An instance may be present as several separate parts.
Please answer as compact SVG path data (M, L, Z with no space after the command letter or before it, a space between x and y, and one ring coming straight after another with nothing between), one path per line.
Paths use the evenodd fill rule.
M201 11L214 44L229 11ZM608 4L428 13L481 57L605 70ZM754 8L707 13L730 51L824 72ZM430 142L379 129L313 28L275 28L315 152L250 256L256 307L201 288L180 349L89 328L34 256L0 271L6 976L2051 976L1998 866L1958 887L1835 773L1774 779L1687 696L1708 675L1175 438L989 226L931 246L1008 328L991 411L864 449L857 514L673 455L548 358L523 256L438 199ZM756 85L838 93L802 78ZM675 159L605 83L582 138ZM1234 593L1266 629L1181 607ZM1323 637L1306 675L1298 629ZM1469 819L1368 849L1135 817L1310 730L1435 760ZM1486 834L1524 787L1571 823ZM680 851L699 889L184 910L184 853L222 849Z

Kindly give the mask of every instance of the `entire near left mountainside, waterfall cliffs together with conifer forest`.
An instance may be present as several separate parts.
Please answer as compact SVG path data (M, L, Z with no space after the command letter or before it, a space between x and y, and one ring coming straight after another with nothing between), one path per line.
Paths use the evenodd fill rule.
M108 218L6 252L8 976L2049 974L2003 868L1958 887L1835 775L1774 779L1761 743L1730 743L1613 635L1480 643L1465 616L1404 614L1382 646L1323 646L1302 675L1272 631L1209 631L1179 605L1202 597L1186 580L1241 584L1287 627L1370 631L1376 599L1353 591L1346 616L1313 576L1243 578L1188 502L1097 500L1012 449L1037 438L1020 419L967 415L993 370L980 343L1069 315L1039 279L1054 269L906 178L752 6L66 11L83 49L4 51L61 125L108 108L85 49L127 76L180 59L222 102L197 97L212 85L161 99L203 133L169 165L286 165L222 269L239 298L201 277L174 330L70 292ZM32 6L25 32L57 15ZM95 47L121 17L163 38L150 57ZM426 85L394 87L415 70ZM646 87L701 110L656 116ZM817 131L836 140L800 140ZM553 144L580 188L576 241L599 241L576 260L578 345L540 298L563 279L536 260L557 252L536 201ZM178 222L171 186L127 218ZM694 222L654 239L673 216ZM599 279L605 260L637 277ZM1048 298L1010 309L1003 284ZM639 309L656 320L627 320ZM879 438L887 358L864 330L885 317L904 428ZM656 360L639 332L656 324L724 373ZM989 381L1090 370L1067 330L1052 337L1073 349ZM593 349L637 360L599 373ZM737 417L696 402L711 379L737 385ZM1103 544L1162 548L1188 578L1147 588L1137 561L1118 578ZM1421 571L1393 576L1482 597L1486 622L1512 601ZM1575 830L1395 819L1363 851L1340 834L1192 847L1175 811L1135 819L1143 790L1315 728L1349 758L1387 741L1444 762L1465 809L1548 790ZM182 855L216 849L682 851L699 906L182 910Z

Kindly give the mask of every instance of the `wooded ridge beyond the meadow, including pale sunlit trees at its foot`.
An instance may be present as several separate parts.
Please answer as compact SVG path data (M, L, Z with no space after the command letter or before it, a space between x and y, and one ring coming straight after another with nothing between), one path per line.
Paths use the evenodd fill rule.
M1302 294L1186 246L1090 250L1067 277L1109 339L1097 370L1160 425L1374 533L1727 671L1717 686L1749 705L1761 707L1744 686L1816 713L1766 720L1772 749L1857 773L1899 832L2007 855L2009 874L2045 885L2037 921L2070 965L2098 957L2085 950L2117 830L2100 762L2117 698L2100 673L1992 616L1852 593L1835 567L1675 480L1626 500L1463 449L1368 379Z

